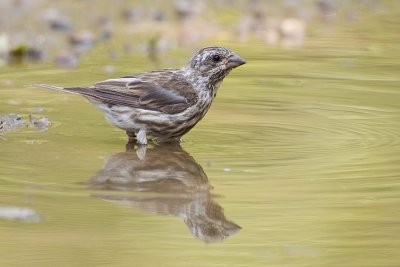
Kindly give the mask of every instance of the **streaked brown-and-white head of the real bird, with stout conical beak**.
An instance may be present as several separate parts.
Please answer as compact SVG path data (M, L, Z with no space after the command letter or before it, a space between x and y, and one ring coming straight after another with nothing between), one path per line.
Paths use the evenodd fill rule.
M246 61L228 48L224 47L206 47L201 49L190 60L189 67L200 73L202 76L210 79L222 81L229 72Z

